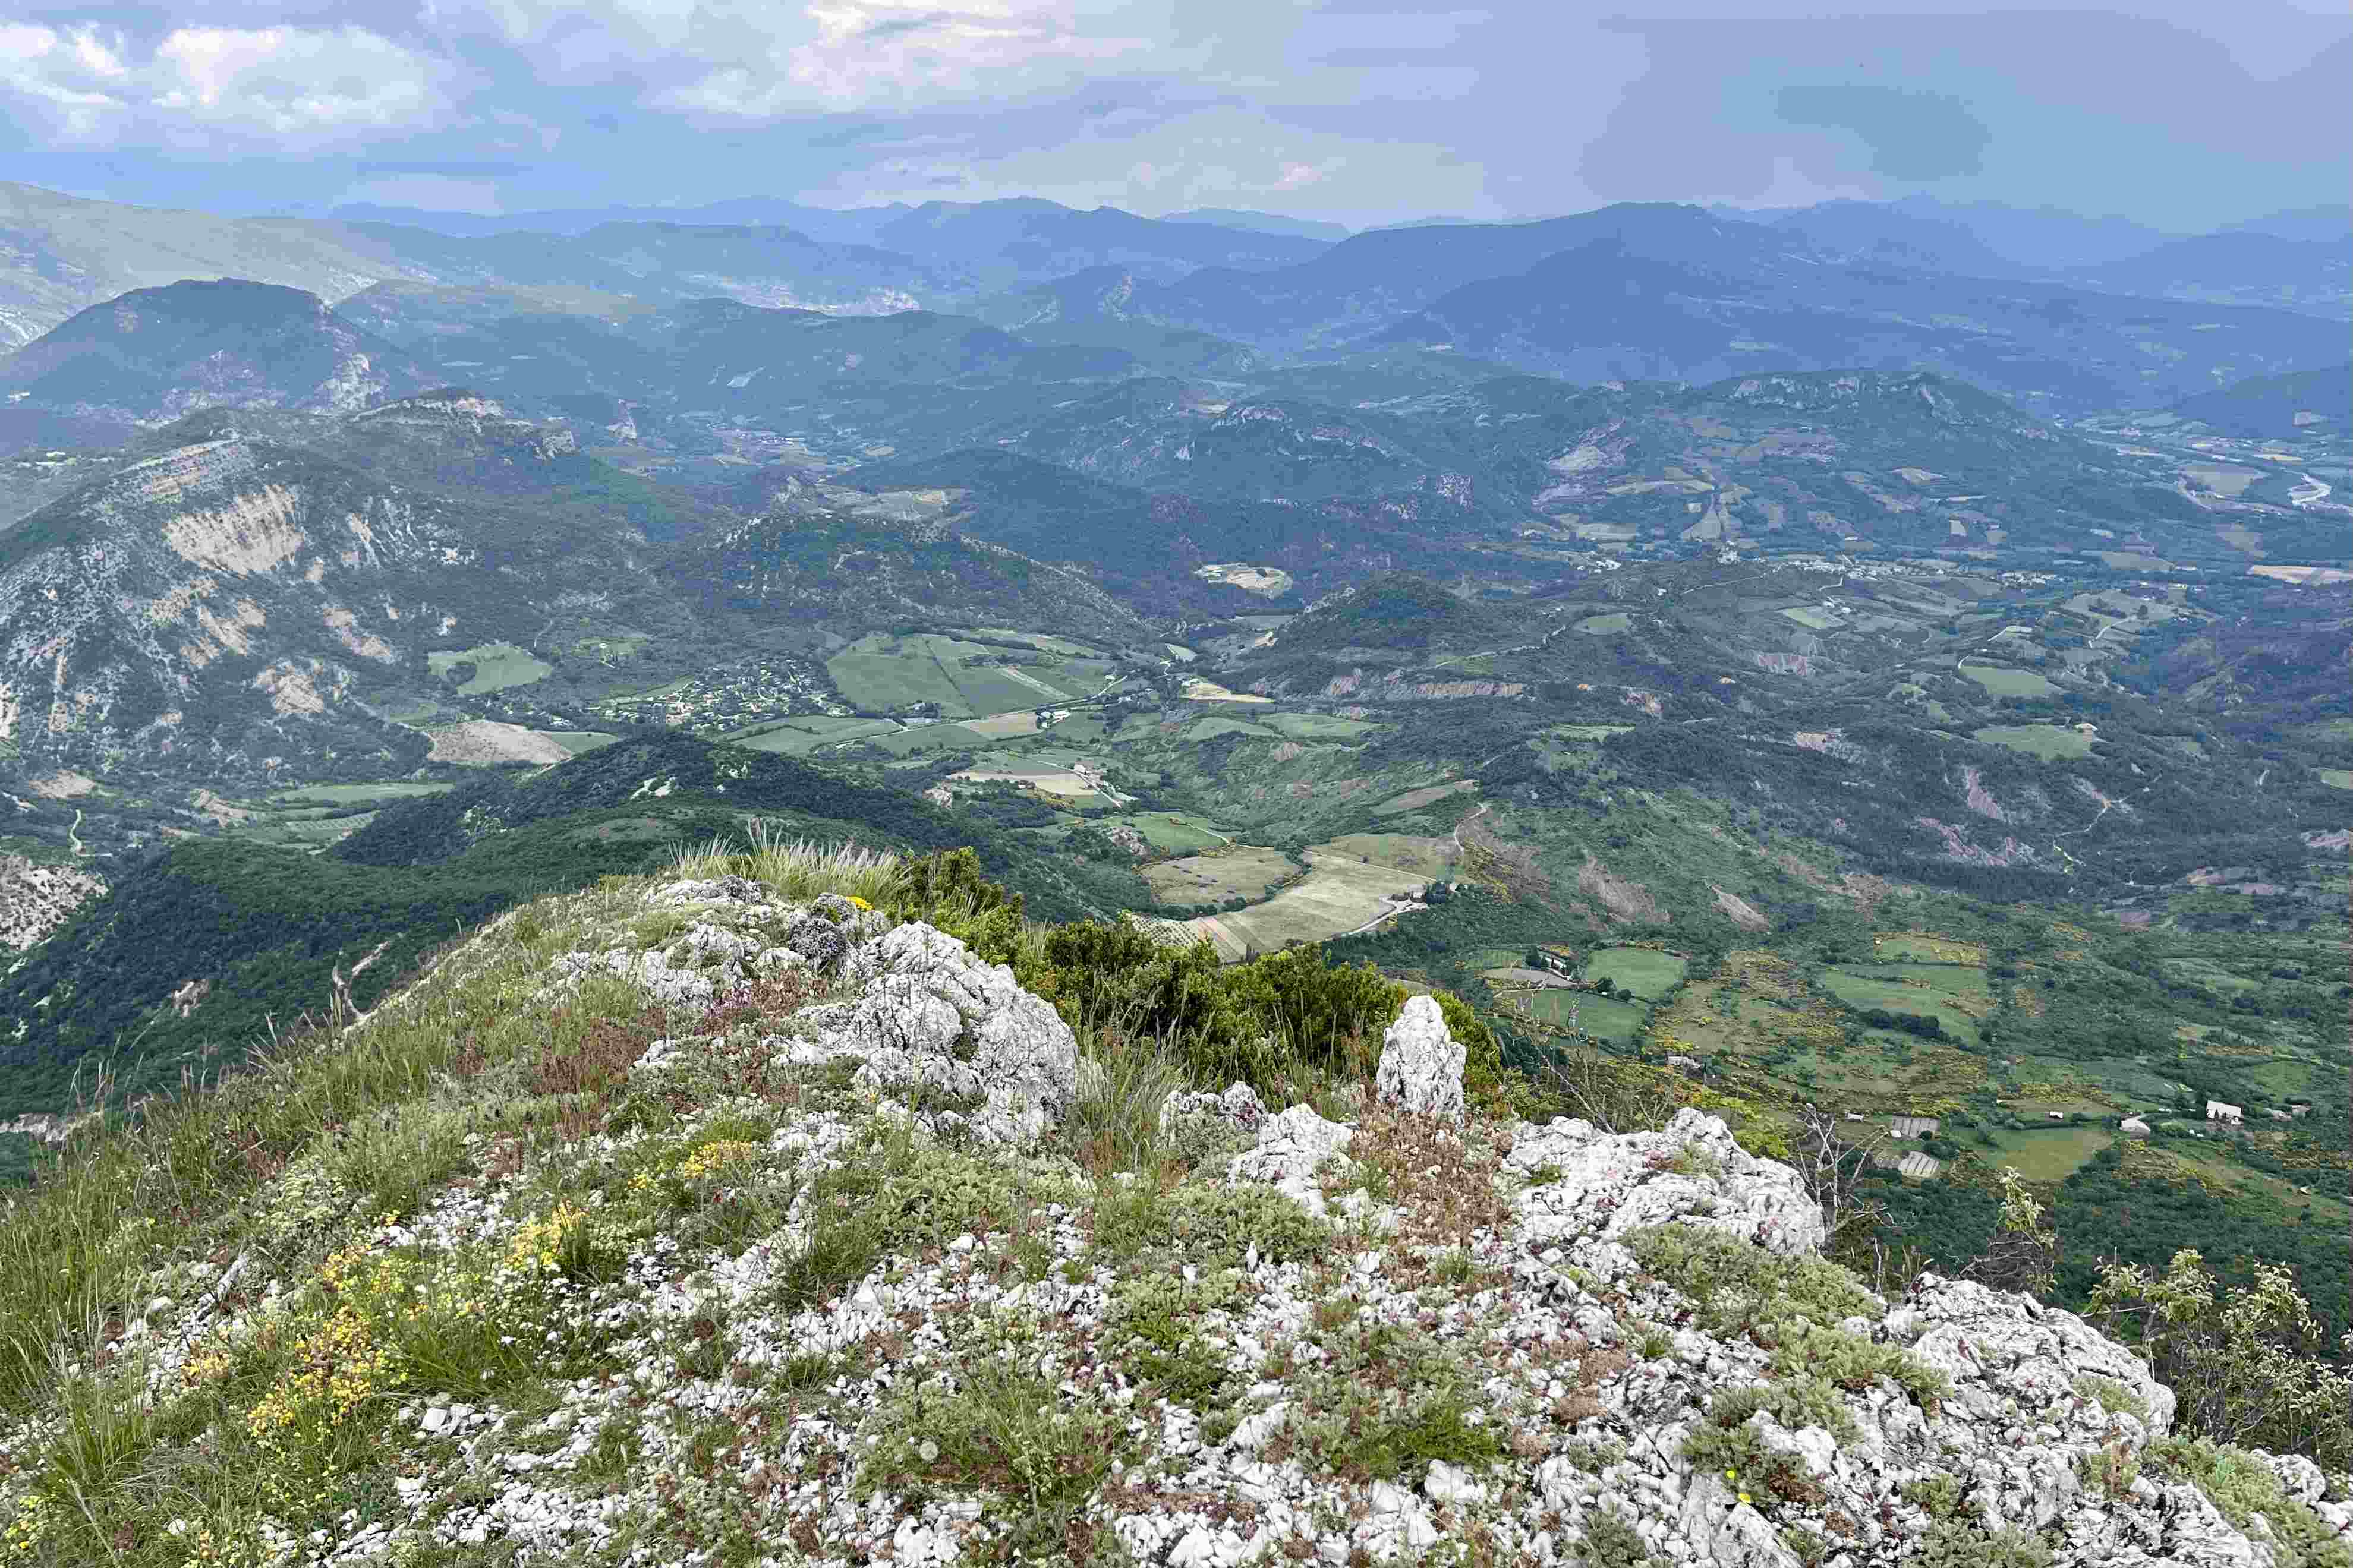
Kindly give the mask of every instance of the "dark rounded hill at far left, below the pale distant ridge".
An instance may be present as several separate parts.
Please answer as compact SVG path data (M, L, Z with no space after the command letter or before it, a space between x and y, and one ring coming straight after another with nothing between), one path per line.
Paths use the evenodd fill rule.
M134 289L0 360L0 397L125 428L209 407L341 414L426 386L320 296L245 280Z

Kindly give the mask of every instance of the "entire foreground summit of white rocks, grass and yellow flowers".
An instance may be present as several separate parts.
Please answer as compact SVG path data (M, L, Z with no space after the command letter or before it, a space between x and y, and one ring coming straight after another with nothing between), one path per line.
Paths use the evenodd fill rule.
M1188 1084L889 872L544 898L85 1150L9 1549L2346 1561L2353 1476L2177 1434L2028 1295L1864 1288L1715 1114L1497 1112L1428 997L1294 1103Z

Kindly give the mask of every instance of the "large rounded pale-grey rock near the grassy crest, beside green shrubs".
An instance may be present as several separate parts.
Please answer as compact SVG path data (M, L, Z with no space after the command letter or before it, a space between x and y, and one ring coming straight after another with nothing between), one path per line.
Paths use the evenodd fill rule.
M918 1114L984 1143L1031 1145L1068 1114L1078 1037L1002 964L911 924L861 945L842 969L859 994L795 1013L798 1041L779 1041L791 1060L852 1058L859 1086L908 1095Z

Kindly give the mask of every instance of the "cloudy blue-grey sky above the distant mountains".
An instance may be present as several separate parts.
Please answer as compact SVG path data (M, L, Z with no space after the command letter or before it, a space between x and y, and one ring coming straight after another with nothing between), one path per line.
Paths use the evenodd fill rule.
M2341 0L31 0L0 14L0 179L1351 226L1925 193L2195 233L2344 202L2348 82Z

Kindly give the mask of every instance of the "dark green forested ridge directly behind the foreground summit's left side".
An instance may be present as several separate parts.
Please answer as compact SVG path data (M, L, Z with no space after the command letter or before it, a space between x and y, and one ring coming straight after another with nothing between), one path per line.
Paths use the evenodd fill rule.
M0 1119L66 1110L92 1053L111 1058L122 1093L162 1088L184 1063L235 1063L273 1016L327 1006L332 971L379 945L358 1006L499 910L741 839L746 813L784 842L972 846L1040 917L1101 912L1066 865L911 790L689 736L631 736L522 783L489 773L395 804L327 856L193 839L120 867L111 886L0 860L0 889L40 882L59 905L35 933L47 940L14 943L31 952L0 976L0 1016L26 1023L0 1053ZM202 1001L174 1004L191 985Z

